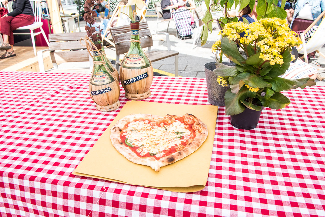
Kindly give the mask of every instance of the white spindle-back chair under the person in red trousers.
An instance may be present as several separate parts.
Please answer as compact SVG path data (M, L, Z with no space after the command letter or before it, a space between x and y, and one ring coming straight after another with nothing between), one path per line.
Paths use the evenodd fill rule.
M30 0L32 8L33 8L33 12L34 12L34 16L35 16L35 20L34 23L28 26L22 26L17 28L16 30L29 30L30 33L28 32L14 32L14 34L16 35L31 35L32 38L32 44L33 44L33 49L34 49L34 55L36 56L36 45L35 45L35 38L34 36L39 35L42 33L47 45L48 45L48 40L46 38L45 32L42 28L43 23L42 23L42 8L41 8L41 4L40 1L38 0ZM40 29L40 32L34 32L35 29Z

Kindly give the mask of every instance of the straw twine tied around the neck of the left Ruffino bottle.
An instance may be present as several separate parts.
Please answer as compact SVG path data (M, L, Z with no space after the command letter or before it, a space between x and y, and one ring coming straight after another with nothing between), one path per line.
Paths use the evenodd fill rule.
M82 41L85 41L85 45L82 43ZM81 38L80 39L80 44L81 45L83 45L84 47L86 47L86 49L87 49L87 51L88 51L88 54L92 57L92 59L93 59L93 63L94 64L96 64L96 65L103 65L104 67L105 67L105 69L107 70L107 72L108 73L110 73L110 75L111 76L113 76L113 78L115 79L115 81L117 81L118 83L120 82L119 81L119 79L114 75L114 73L113 72L111 72L108 68L107 68L107 66L106 66L106 62L110 65L110 67L111 68L114 68L113 66L112 66L112 64L110 63L110 61L108 60L108 58L105 56L105 55L103 55L103 54L101 54L100 52L99 52L99 50L98 50L98 48L96 47L96 45L87 37L87 36L85 36L85 38ZM98 52L98 54L99 54L99 56L100 56L100 58L102 59L102 61L95 61L94 60L94 57L93 57L93 55L91 54L92 53L92 50L93 50L93 48L95 48L96 49L96 51ZM93 67L93 70L91 71L91 74L93 74L94 73L94 67ZM91 78L90 78L91 79Z

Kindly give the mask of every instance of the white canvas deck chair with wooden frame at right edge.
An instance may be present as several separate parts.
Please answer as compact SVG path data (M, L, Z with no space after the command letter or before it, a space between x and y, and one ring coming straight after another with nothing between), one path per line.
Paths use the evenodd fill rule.
M300 34L301 40L303 42L303 44L297 48L298 52L300 54L304 54L303 57L301 58L305 58L305 62L308 64L308 58L307 58L307 54L312 53L314 51L316 51L319 56L325 58L325 55L322 54L321 52L319 52L319 48L321 46L323 46L325 44L325 11L323 11L318 18L316 18L314 20L314 22L312 24L310 24L310 26L305 30L305 32ZM319 24L317 30L315 31L315 33L311 36L311 38L306 42L305 41L305 34L318 22L319 19L322 19L321 23ZM318 70L322 70L325 68L321 68Z

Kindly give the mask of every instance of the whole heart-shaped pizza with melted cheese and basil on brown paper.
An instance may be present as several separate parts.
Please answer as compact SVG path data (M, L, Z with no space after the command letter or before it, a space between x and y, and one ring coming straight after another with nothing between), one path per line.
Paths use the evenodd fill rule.
M155 171L193 153L207 135L207 126L192 114L130 114L110 130L110 140L118 152Z

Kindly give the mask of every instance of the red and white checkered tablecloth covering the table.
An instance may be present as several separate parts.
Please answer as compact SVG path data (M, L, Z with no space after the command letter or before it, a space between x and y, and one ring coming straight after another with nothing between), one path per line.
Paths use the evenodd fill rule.
M177 193L71 173L128 101L96 110L89 75L0 72L2 216L325 216L325 88L284 92L239 130L218 108L206 187ZM210 105L205 79L154 77L150 102Z

